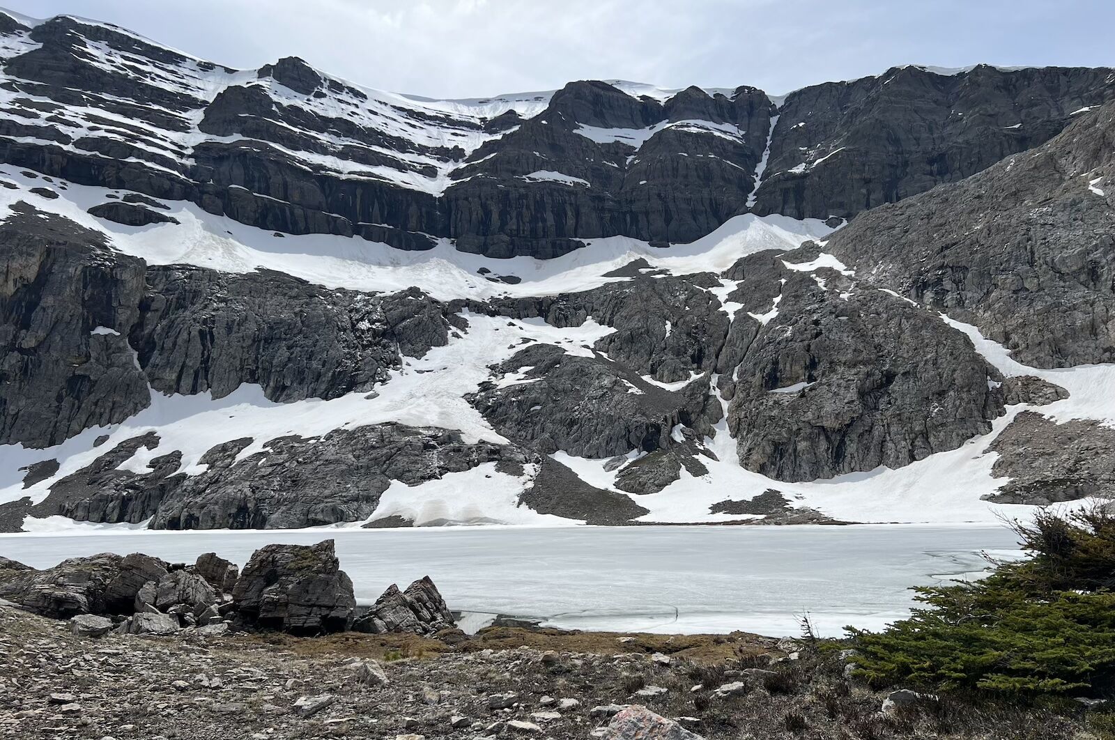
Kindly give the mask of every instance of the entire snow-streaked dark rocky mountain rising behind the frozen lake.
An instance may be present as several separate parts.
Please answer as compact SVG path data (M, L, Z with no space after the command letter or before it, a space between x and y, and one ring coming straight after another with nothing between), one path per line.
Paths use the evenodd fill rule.
M0 57L0 530L1112 490L1109 69L430 100L12 13Z

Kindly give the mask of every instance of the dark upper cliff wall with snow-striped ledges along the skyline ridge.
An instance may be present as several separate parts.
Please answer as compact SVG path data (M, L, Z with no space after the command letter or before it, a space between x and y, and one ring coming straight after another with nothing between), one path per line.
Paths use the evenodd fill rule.
M1108 69L906 67L804 88L780 108L752 87L657 100L575 81L523 117L498 100L447 113L369 94L294 57L249 80L75 18L9 37L16 113L0 117L0 160L268 231L405 250L450 237L493 256L612 235L692 241L748 208L768 147L758 212L851 216L1040 144L1113 95Z

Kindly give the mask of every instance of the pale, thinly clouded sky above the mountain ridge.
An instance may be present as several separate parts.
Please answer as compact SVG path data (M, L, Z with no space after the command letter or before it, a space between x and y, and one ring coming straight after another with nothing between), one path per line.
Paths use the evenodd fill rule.
M0 0L231 67L300 56L430 97L575 79L772 94L899 64L1115 66L1113 0Z

